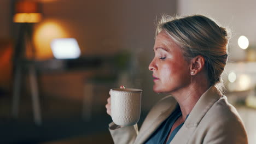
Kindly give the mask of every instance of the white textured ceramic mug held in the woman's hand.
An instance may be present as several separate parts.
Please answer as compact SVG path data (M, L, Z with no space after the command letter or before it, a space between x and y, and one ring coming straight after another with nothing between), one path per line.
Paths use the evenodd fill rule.
M111 117L117 125L134 125L141 116L141 89L113 88L111 94Z

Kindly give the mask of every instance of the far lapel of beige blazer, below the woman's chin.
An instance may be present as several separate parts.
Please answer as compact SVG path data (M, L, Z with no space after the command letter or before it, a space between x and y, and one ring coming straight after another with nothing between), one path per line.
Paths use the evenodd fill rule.
M147 124L143 125L142 129L139 131L135 143L144 143L149 138L149 136L152 135L154 131L160 126L160 124L164 122L168 116L170 116L176 105L177 102L170 105L167 110L162 111L154 121L148 122Z

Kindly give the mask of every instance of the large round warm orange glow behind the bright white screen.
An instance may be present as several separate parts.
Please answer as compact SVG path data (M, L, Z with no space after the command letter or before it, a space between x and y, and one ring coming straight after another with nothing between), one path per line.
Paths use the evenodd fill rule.
M34 32L34 44L37 51L37 59L53 58L51 41L56 38L67 38L64 28L54 20L45 20L39 23Z

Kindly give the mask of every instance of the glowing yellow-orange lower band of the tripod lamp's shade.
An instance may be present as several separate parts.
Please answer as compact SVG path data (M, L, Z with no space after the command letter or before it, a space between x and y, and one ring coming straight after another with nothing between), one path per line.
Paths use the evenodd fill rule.
M18 23L36 23L42 20L42 14L40 13L17 13L13 17L13 22Z

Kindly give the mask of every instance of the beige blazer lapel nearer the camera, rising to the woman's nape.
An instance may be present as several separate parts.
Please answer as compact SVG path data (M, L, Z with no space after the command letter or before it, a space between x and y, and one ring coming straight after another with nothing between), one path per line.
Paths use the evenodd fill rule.
M170 144L187 143L203 116L221 96L222 94L214 86L203 93Z

